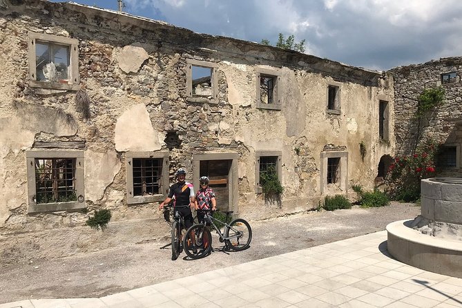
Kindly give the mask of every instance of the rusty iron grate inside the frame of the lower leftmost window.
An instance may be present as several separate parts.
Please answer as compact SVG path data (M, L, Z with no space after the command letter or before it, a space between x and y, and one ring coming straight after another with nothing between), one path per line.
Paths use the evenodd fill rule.
M37 204L77 201L75 158L36 158Z

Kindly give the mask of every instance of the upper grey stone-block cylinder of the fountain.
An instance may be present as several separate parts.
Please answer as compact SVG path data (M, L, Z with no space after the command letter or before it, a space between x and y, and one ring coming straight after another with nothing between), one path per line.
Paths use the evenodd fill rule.
M436 222L462 224L462 178L421 180L421 215Z

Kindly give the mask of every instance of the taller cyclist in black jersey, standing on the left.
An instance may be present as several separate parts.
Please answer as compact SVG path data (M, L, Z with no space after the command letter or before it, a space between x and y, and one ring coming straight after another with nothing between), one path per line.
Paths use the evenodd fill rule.
M183 216L184 227L187 230L194 224L193 213L191 212L191 209L195 206L194 188L193 184L184 180L186 178L186 171L184 171L184 169L178 169L175 176L177 178L177 182L170 186L169 195L164 202L159 204L159 209L162 209L165 204L169 204L173 195L175 195L175 206L189 205L188 207L178 207L177 209L180 215Z

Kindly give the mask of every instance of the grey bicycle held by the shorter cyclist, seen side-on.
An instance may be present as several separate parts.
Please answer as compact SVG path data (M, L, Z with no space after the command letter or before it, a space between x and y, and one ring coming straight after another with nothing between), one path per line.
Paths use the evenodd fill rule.
M227 249L233 251L242 251L247 249L252 240L252 229L249 222L238 218L227 224L213 217L211 210L204 211L204 219L199 224L194 224L186 231L183 238L184 252L191 259L200 259L207 256L212 249L212 235L207 227L210 224L220 237L220 242L224 242ZM233 211L224 211L226 213L225 221ZM223 225L223 233L221 227L217 227L215 222Z

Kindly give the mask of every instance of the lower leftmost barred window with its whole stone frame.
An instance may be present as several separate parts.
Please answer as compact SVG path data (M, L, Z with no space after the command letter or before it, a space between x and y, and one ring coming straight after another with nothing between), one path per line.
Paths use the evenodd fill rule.
M28 151L29 213L82 209L82 151Z

